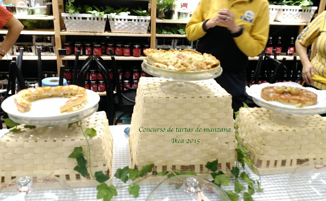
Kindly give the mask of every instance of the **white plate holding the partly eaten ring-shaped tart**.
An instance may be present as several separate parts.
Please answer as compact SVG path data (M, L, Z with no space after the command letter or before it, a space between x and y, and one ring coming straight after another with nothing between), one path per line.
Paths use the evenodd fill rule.
M77 117L79 114L83 114L83 116L91 115L88 112L89 110L94 110L94 107L98 107L98 102L100 100L99 95L96 92L91 90L87 91L88 103L86 106L78 111L73 111L69 113L60 113L60 106L63 105L69 98L66 97L51 97L51 98L42 98L35 101L32 101L32 109L28 112L20 112L18 111L16 104L14 102L14 98L17 95L13 95L8 97L2 103L1 107L5 112L8 113L10 118L15 120L21 120L24 122L43 122L42 124L29 124L29 125L44 125L44 123L49 122L49 125L58 125L58 123L52 124L51 122L57 122L60 120L68 120L72 119L72 117ZM86 117L85 117L86 118ZM22 122L18 123L22 123ZM71 122L70 122L71 123Z

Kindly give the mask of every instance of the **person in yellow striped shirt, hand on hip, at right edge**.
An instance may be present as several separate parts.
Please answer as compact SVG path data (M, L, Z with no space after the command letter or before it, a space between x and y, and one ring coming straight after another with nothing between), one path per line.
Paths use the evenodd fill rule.
M326 90L326 11L312 20L296 38L295 48L302 63L302 78L312 87ZM309 61L307 47L317 39L317 52Z

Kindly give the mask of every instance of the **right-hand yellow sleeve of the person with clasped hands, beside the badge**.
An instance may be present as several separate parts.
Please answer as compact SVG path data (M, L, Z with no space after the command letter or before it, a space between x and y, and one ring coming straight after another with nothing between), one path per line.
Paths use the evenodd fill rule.
M257 56L265 48L269 34L269 8L265 1L249 32L243 28L239 37L234 38L238 48L247 56Z

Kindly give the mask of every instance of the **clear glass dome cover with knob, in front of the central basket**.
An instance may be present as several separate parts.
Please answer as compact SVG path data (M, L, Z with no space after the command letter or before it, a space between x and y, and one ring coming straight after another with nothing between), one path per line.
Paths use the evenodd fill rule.
M210 181L194 175L179 175L159 183L147 201L219 201L227 194Z

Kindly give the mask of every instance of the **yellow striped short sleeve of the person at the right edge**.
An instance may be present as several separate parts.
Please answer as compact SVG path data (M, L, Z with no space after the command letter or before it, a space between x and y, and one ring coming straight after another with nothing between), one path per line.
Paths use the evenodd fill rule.
M322 12L297 37L297 40L304 46L308 47L320 35L322 27L324 26L325 12Z

